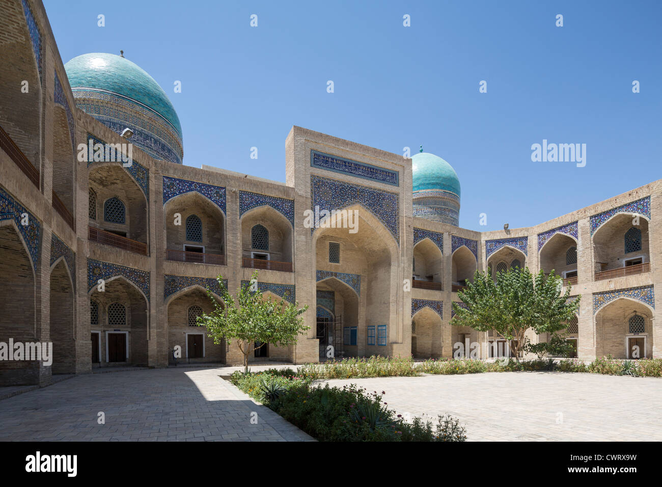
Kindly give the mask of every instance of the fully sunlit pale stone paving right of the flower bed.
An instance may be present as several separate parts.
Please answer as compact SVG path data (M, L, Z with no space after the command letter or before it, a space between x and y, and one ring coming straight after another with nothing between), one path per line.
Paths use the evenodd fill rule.
M402 415L450 413L467 441L662 441L662 379L499 372L328 380L385 391Z

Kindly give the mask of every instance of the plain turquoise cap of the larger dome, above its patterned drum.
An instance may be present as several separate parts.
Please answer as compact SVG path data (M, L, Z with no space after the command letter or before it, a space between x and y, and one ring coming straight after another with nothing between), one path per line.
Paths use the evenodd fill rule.
M93 52L64 65L71 91L80 88L105 91L158 113L181 137L179 117L166 92L134 62L116 54Z

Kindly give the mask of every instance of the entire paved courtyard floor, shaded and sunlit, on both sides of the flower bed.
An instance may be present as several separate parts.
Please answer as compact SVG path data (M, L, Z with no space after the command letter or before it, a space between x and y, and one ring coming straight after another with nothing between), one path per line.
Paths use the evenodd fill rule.
M0 401L0 441L311 440L219 377L238 369L75 376ZM385 391L405 416L449 413L469 441L662 441L659 378L502 372L319 382Z

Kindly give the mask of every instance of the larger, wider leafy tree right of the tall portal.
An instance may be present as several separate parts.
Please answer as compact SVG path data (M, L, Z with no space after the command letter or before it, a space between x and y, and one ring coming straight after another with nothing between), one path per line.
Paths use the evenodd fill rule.
M569 299L571 286L561 296L561 282L553 270L549 276L541 270L534 278L528 268L514 268L498 272L496 282L476 271L473 284L467 283L467 288L457 294L465 307L453 303L455 316L451 323L495 331L510 341L510 351L519 360L520 351L531 347L524 336L528 329L553 334L565 329L579 309L581 297Z

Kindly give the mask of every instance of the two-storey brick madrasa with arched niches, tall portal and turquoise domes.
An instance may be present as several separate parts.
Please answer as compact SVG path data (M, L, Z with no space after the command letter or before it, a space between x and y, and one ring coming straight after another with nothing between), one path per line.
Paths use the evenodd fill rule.
M467 339L503 341L451 325L452 303L475 270L516 266L555 270L581 294L567 328L579 358L662 357L662 180L477 232L459 227L455 170L426 152L293 127L285 183L183 166L177 113L148 73L115 54L65 64L40 1L0 8L0 343L53 346L52 364L0 360L0 384L165 367L175 346L188 362L240 363L236 344L194 323L216 276L236 293L255 270L267 296L310 307L310 329L253 361L316 362L328 345L336 358L448 357ZM131 147L130 163L106 147Z

